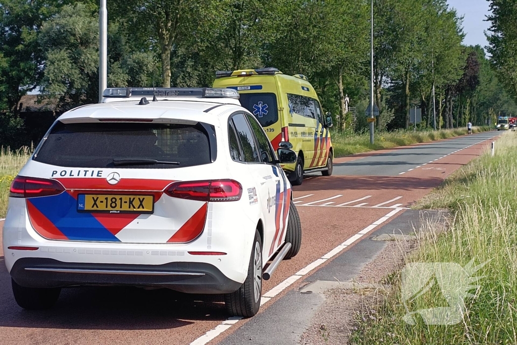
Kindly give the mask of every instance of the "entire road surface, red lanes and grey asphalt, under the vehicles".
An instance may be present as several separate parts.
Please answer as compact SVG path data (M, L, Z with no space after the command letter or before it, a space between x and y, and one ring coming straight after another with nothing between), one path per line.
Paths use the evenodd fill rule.
M478 156L490 141L479 142L495 135L340 158L333 176L308 177L293 192L301 250L264 283L268 297L250 320L228 320L221 296L116 287L65 289L53 309L25 311L12 297L0 247L0 343L296 344L323 298L302 296L299 287L331 276L353 278L382 247L367 240L370 234L418 218L407 208Z

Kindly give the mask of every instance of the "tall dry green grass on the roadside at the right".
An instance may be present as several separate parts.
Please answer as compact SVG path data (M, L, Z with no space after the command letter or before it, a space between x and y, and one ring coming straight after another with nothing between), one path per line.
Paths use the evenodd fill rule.
M424 224L417 250L406 262L470 260L486 265L467 297L464 319L457 325L426 325L418 318L406 324L400 275L381 305L361 314L352 344L517 344L517 136L507 132L496 142L495 156L486 152L449 177L443 187L419 203L421 208L447 208L454 218L447 231ZM443 229L442 229L443 230ZM444 305L439 289L431 289L408 305L410 311ZM364 319L363 319L364 318ZM366 321L363 321L366 320Z

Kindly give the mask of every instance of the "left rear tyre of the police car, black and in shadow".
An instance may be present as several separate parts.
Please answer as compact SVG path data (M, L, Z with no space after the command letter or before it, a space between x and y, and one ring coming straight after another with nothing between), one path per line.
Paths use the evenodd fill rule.
M23 309L52 308L61 292L61 288L25 288L18 285L13 279L11 279L11 282L14 299Z

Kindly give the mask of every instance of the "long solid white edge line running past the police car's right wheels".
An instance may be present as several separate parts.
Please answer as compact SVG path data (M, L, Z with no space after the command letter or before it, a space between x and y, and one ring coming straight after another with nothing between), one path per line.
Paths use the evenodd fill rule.
M292 275L291 277L288 277L284 281L282 281L280 284L278 284L276 287L272 288L268 292L262 295L262 301L261 306L263 304L266 304L270 301L272 297L275 297L279 293L281 293L283 290L290 287L293 283L295 283L298 279L302 278L304 275L311 272L314 268L317 266L320 266L324 262L326 262L329 259L332 259L333 257L337 256L341 251L343 251L346 247L353 244L354 242L358 241L361 237L378 227L383 222L387 221L389 218L393 217L397 213L402 211L402 208L397 208L388 213L386 216L378 219L373 224L369 225L368 227L364 228L363 230L359 231L354 236L348 238L345 242L337 246L336 248L329 251L327 254L325 254L323 257L315 260L314 262L310 263L309 265L305 266L304 268L300 269L296 274ZM218 335L222 334L224 331L232 327L234 324L238 323L242 318L238 317L232 317L224 320L221 322L221 324L217 325L214 329L210 329L210 331L206 332L201 337L195 339L190 343L190 345L205 345L210 340L216 338Z

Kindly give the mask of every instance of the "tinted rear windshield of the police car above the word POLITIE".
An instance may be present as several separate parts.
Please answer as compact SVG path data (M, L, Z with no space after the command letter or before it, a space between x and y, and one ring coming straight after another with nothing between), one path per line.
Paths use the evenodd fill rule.
M215 136L213 127L201 123L57 122L34 160L75 168L200 166L214 160L209 135Z

